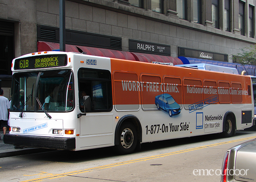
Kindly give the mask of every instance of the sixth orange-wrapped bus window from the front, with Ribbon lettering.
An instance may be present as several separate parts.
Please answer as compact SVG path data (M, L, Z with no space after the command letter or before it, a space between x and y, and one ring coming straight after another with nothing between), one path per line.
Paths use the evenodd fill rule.
M229 82L218 82L218 96L219 103L227 104L230 103L230 94L229 94L230 85Z

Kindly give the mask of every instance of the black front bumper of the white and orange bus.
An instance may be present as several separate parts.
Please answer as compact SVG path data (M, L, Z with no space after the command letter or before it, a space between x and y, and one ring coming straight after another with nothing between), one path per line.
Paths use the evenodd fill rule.
M75 138L36 137L27 135L4 135L4 143L22 147L38 147L45 149L74 150Z

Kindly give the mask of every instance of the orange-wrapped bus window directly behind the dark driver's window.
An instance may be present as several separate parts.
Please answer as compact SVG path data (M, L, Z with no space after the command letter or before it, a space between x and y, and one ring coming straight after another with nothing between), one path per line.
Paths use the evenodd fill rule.
M138 75L130 72L114 72L114 105L117 111L138 111L140 83Z

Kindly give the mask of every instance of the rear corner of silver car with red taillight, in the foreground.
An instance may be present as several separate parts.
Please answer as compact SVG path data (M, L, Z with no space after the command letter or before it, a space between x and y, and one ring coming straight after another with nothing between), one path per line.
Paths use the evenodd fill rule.
M256 181L256 138L226 151L221 182Z

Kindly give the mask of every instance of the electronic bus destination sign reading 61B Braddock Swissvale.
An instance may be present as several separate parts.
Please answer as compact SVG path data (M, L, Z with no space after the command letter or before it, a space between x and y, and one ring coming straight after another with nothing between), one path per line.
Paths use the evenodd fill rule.
M26 70L37 68L50 68L67 65L67 55L40 55L27 58L16 59L14 70Z

